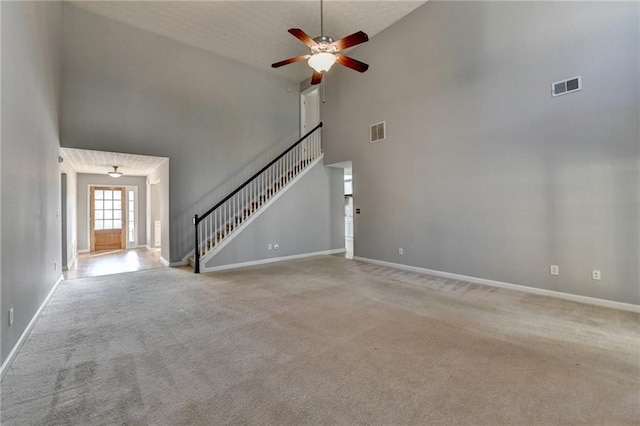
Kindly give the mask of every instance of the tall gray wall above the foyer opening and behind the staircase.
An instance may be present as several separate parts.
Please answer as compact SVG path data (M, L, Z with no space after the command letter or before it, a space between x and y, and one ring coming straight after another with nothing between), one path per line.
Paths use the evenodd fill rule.
M199 200L297 139L298 83L71 4L63 13L61 144L171 158L170 253L179 261L193 248Z

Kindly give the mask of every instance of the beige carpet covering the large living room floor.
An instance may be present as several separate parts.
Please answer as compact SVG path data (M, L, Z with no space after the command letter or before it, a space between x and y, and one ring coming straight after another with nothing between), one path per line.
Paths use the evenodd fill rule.
M638 424L640 316L333 256L63 282L25 424Z

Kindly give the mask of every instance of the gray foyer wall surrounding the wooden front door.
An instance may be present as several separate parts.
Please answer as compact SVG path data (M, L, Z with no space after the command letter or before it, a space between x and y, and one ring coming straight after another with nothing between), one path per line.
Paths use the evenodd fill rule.
M138 245L147 244L147 178L144 176L121 176L118 179L104 175L78 173L78 250L89 250L89 187L90 186L134 186L138 188Z

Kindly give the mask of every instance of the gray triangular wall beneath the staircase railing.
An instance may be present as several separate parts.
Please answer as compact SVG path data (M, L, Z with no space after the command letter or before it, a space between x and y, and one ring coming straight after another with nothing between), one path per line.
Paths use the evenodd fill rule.
M344 248L343 187L342 169L317 164L206 266Z

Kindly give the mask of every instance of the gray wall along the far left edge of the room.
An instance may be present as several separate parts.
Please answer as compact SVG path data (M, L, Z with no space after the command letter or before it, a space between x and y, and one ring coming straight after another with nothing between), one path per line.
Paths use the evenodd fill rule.
M61 276L59 2L1 2L4 362ZM56 269L54 269L56 263ZM15 322L9 327L9 308Z

